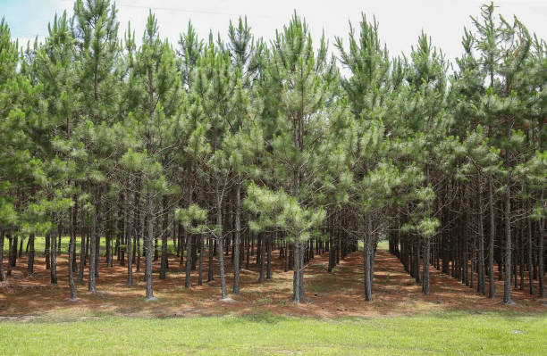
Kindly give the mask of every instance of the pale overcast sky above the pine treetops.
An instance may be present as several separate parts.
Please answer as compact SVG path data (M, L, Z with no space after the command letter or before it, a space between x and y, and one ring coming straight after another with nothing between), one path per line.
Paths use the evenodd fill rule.
M462 53L460 39L464 26L470 27L470 15L478 16L483 0L118 0L118 20L121 33L136 29L141 37L148 9L156 13L160 36L173 44L191 19L201 37L209 30L226 36L229 21L247 15L248 23L256 37L273 38L275 29L290 21L292 12L306 18L312 36L317 40L324 30L333 43L335 36L346 38L349 21L358 26L360 13L379 22L380 37L391 55L408 54L410 46L424 30L433 38L433 44L451 60ZM547 0L499 0L498 11L508 19L517 15L530 32L547 38ZM0 14L5 17L13 37L26 43L29 38L43 38L47 22L55 12L67 10L72 14L72 0L0 0ZM332 49L332 46L331 46Z

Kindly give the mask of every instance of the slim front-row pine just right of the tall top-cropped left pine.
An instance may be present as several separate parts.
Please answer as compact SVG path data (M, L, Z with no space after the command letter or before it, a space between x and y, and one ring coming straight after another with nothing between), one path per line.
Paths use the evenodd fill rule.
M173 137L171 132L173 126L178 125L181 86L173 48L167 42L159 39L156 16L152 12L148 15L142 46L130 66L130 93L141 99L133 101L134 106L131 107L131 110L139 120L142 135L140 148L146 153L146 160L139 157L135 161L145 161L140 170L146 187L147 202L145 279L147 299L153 300L152 240L154 238L154 223L159 218L155 211L155 203L159 205L160 202L166 202L167 195L173 190L173 186L170 186L165 177L168 169L166 164L170 159L167 156L168 153L163 152L163 149L170 145L176 147L177 138ZM168 213L169 211L162 211L164 216ZM165 226L164 230L166 228ZM165 277L166 268L167 231L164 231L162 233L162 267L160 271L162 279Z

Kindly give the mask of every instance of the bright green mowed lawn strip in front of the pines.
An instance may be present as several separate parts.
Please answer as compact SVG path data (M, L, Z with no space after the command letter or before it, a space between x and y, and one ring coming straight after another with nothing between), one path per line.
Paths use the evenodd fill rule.
M89 317L0 322L4 355L544 355L547 315Z

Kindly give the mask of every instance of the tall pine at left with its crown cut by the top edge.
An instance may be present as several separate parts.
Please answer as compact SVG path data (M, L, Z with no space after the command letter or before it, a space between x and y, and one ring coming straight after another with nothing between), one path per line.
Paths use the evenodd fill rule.
M114 121L117 101L119 56L116 8L110 0L77 0L74 4L72 37L76 40L76 87L80 95L80 118L74 140L83 143L91 170L85 182L94 208L91 223L88 290L97 291L98 248L102 236L104 209L101 196L107 190L105 170L113 145L108 123ZM110 141L110 142L108 142Z

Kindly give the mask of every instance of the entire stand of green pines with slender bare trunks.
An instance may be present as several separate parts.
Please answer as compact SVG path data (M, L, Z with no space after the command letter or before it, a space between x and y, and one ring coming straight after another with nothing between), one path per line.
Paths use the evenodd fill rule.
M387 239L424 294L433 265L490 298L503 279L506 303L544 296L547 44L517 18L483 5L450 62L425 33L391 56L365 15L330 50L296 12L269 42L240 18L227 39L190 22L176 45L150 12L139 46L116 14L77 0L21 48L0 24L1 280L23 240L31 275L45 236L56 284L68 235L71 299L86 275L97 291L104 238L150 300L170 253L187 288L207 264L227 298L227 264L239 294L249 256L264 281L279 251L300 302L315 254L330 272L362 249L372 301Z

